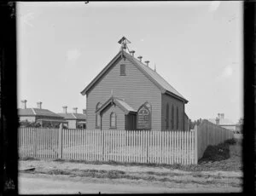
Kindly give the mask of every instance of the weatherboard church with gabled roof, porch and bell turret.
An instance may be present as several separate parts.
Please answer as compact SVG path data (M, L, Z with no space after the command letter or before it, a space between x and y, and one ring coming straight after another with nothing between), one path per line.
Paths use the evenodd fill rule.
M119 53L81 92L86 95L87 129L188 130L188 101L149 61L126 52L125 37L119 43Z

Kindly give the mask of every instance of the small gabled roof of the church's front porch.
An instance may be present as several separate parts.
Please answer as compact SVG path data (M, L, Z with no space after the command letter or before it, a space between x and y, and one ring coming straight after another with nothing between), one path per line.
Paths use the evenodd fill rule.
M131 106L129 106L129 104L126 103L125 101L122 101L117 97L111 96L108 99L108 101L106 101L105 103L102 104L102 107L100 107L96 110L96 113L101 113L106 108L111 107L113 104L118 106L123 112L125 112L125 114L137 112L135 109L133 109Z

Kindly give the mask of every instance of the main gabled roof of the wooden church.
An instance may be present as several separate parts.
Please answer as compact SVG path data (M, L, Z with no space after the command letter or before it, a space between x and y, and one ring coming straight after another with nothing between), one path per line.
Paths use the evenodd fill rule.
M96 82L102 78L102 76L108 71L108 69L110 69L114 62L119 60L119 58L121 58L121 56L125 56L126 59L128 59L129 61L131 61L131 63L135 66L137 66L137 68L143 72L143 74L148 77L160 90L162 93L165 93L166 95L172 95L174 97L176 97L177 99L181 99L183 100L185 103L187 103L188 101L183 97L183 95L181 95L180 93L177 92L176 89L174 89L172 87L172 85L168 84L166 82L166 80L164 78L162 78L160 76L160 74L158 74L157 72L154 72L154 70L152 70L149 66L146 66L143 64L143 62L138 61L136 58L134 58L132 55L129 55L128 53L126 53L125 51L119 51L119 53L117 55L115 55L113 57L113 60L110 61L108 63L107 66L105 66L102 70L102 72L100 72L96 78L94 78L90 84L88 84L85 89L81 92L82 95L86 95L86 93L88 92L88 90L94 86L94 84L96 84Z

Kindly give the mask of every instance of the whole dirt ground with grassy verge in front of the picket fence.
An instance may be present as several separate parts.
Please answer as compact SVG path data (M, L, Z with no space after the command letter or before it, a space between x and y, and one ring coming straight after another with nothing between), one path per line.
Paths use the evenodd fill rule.
M241 171L185 171L164 167L20 161L20 194L238 193Z

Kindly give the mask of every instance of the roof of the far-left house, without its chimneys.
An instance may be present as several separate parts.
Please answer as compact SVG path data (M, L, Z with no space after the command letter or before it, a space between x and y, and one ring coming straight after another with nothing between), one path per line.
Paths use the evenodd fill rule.
M19 108L18 115L62 118L60 115L56 114L55 112L51 112L48 109L39 109L39 108L26 108L26 109Z

